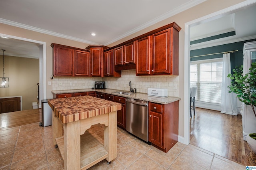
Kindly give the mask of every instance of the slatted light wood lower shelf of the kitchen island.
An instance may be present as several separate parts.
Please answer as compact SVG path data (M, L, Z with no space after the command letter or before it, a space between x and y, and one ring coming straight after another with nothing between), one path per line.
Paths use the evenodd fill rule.
M88 169L94 164L106 159L108 152L104 149L104 140L91 130L80 135L81 139L81 170ZM60 154L64 160L64 136L56 138Z

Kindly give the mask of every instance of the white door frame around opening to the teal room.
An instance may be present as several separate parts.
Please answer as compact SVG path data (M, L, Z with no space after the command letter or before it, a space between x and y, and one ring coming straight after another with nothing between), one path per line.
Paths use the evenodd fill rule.
M190 142L190 114L189 113L189 87L190 87L190 27L221 18L255 4L256 0L246 0L234 6L203 16L196 20L186 22L184 26L184 144Z

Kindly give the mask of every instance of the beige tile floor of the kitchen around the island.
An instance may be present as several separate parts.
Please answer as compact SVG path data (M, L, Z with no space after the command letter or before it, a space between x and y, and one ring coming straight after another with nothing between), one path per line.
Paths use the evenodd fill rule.
M103 127L90 131L100 137ZM245 166L193 146L178 142L168 153L150 146L124 130L117 130L117 158L90 170L245 170ZM52 127L32 123L0 130L0 170L62 170L64 162L52 144Z

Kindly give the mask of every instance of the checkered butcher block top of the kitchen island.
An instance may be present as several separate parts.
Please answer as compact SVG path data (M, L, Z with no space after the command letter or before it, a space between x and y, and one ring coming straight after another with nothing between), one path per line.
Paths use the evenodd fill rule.
M121 110L121 104L92 96L49 99L48 104L62 123L70 123Z

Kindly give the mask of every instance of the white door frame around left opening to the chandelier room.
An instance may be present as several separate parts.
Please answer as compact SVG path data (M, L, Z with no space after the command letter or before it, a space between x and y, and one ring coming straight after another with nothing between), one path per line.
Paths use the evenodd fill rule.
M42 104L40 101L42 99L46 99L46 42L40 42L36 40L31 40L27 38L21 38L21 37L6 35L6 34L0 34L0 36L40 44L38 46L40 51L39 52L39 84L40 84L39 97L40 99L38 103L38 108L41 108Z

